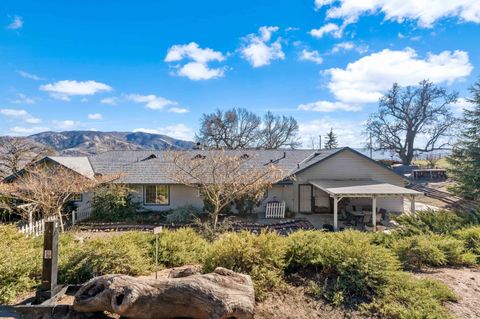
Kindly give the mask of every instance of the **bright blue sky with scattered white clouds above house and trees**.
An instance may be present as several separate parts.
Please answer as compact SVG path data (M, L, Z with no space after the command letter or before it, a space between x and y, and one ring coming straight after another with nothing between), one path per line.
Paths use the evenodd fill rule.
M305 146L333 127L356 147L394 81L467 96L478 39L478 0L4 0L0 134L191 139L202 113L244 107L294 116Z

